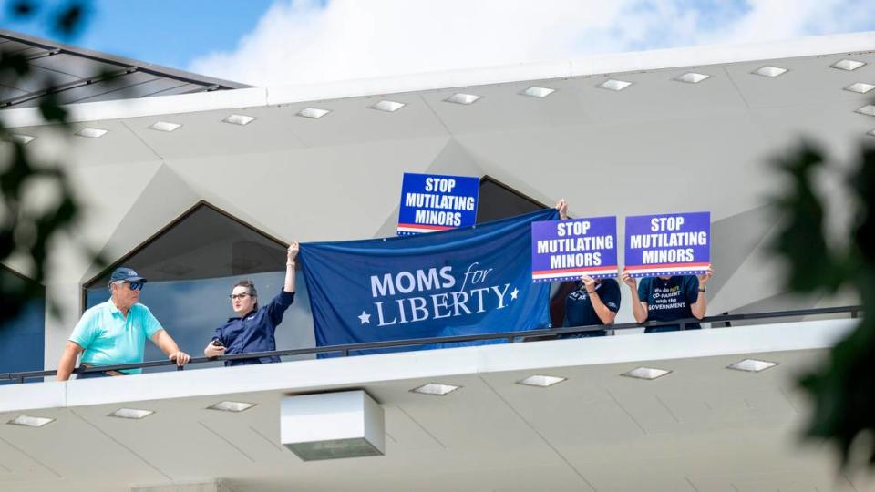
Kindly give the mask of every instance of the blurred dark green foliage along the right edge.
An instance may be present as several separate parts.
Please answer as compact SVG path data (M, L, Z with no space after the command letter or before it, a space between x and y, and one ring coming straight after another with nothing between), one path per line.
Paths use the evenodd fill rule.
M836 292L850 288L860 294L864 316L852 333L830 352L829 361L800 381L815 408L808 436L836 446L843 466L853 446L875 464L875 149L860 152L856 170L847 179L853 200L849 241L829 241L824 200L818 195L818 172L826 169L824 154L802 146L778 163L791 187L776 201L786 220L772 246L789 263L787 286L793 292ZM840 242L840 241L839 241Z

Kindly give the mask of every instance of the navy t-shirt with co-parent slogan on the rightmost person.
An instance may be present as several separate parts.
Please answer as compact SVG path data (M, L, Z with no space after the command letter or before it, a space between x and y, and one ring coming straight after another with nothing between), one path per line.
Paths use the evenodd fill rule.
M647 321L674 321L692 318L690 308L699 297L699 279L695 275L675 275L668 280L647 277L638 283L638 299L647 302ZM687 330L702 328L699 323L688 323ZM680 324L653 326L644 333L676 332Z

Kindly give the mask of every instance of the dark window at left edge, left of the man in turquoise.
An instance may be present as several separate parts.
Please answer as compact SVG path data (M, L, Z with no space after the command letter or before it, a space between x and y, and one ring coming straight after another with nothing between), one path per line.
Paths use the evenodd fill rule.
M0 265L0 283L18 287L27 282L38 292L15 319L0 325L0 373L42 371L46 349L46 288ZM16 285L17 284L17 285ZM42 381L28 379L27 382ZM0 384L9 384L0 381Z

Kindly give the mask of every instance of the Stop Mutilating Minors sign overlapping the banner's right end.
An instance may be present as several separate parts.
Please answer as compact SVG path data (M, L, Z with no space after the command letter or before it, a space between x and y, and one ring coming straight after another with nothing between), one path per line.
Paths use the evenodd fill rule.
M555 282L617 275L617 218L531 224L531 280Z

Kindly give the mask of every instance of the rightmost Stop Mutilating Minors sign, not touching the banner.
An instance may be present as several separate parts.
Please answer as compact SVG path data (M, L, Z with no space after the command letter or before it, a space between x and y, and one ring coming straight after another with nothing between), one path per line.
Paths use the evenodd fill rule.
M626 217L625 270L633 277L687 275L711 265L711 213Z

